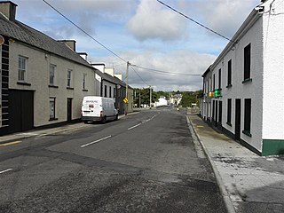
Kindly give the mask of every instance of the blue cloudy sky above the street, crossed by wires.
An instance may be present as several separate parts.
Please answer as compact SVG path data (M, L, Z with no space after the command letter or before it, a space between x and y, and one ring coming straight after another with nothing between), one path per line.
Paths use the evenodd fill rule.
M154 91L201 90L201 75L228 43L156 0L45 1L110 51L43 0L12 0L18 5L16 19L55 40L75 40L76 51L86 52L89 62L114 67L114 73L122 74L123 80L129 61L132 66L128 82L133 88L151 85ZM260 4L260 0L162 2L228 38L233 37L248 14Z

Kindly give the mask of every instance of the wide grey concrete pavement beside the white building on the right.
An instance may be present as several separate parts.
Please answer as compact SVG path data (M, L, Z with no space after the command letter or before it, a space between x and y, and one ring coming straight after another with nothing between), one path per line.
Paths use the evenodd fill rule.
M208 155L228 212L284 212L284 158L262 157L188 115Z

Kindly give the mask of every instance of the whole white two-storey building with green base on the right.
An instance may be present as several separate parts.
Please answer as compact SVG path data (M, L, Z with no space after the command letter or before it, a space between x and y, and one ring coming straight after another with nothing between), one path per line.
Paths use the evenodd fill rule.
M284 154L283 11L280 0L268 0L256 6L233 36L236 43L228 43L203 75L202 118L262 155ZM244 51L249 45L250 76L245 79ZM231 83L228 82L230 63ZM221 93L213 95L214 91ZM228 99L231 99L231 107ZM251 104L250 114L245 115L246 99L250 99ZM237 101L241 101L240 109ZM249 130L245 130L246 116L250 116Z

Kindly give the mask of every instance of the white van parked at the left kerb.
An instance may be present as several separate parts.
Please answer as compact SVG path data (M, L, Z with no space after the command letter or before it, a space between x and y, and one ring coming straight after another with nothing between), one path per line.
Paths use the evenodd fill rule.
M82 104L82 121L105 123L108 120L118 120L118 112L114 106L114 99L99 96L85 96Z

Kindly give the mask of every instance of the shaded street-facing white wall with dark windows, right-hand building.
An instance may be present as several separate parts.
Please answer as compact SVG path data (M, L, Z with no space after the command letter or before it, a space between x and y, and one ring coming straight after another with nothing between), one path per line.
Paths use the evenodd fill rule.
M248 32L235 44L234 49L229 51L224 59L213 67L215 74L215 87L218 88L218 70L221 68L222 80L222 125L226 130L234 134L235 130L235 99L241 99L241 139L250 146L261 150L262 146L262 86L263 86L263 44L262 44L262 19L248 29ZM250 43L250 77L252 82L242 83L244 80L244 48ZM232 59L232 84L227 86L227 63ZM227 121L227 99L232 99L232 126L226 124ZM251 124L250 133L252 137L242 133L244 130L244 100L251 99Z

